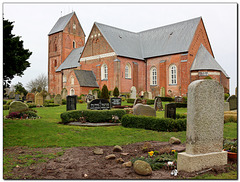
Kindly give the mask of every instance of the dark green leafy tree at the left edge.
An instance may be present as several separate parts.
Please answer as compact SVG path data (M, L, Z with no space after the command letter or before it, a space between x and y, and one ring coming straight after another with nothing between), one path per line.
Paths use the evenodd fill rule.
M22 76L30 67L27 61L32 52L23 48L20 36L12 34L13 22L3 20L3 88L10 86L14 76Z

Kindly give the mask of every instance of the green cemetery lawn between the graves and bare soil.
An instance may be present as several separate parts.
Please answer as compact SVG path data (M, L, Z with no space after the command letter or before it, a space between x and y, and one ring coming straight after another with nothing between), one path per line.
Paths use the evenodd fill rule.
M125 101L126 102L126 101ZM125 102L123 104L125 104ZM77 104L78 110L86 110L86 104ZM170 137L179 138L182 143L186 141L186 132L157 132L144 129L112 127L78 127L58 124L60 114L66 111L66 105L58 107L34 108L41 117L36 120L10 120L3 119L3 149L28 148L31 155L21 154L22 158L5 154L3 159L4 176L11 176L19 161L24 165L46 162L64 154L65 149L80 146L114 146L127 145L144 141L167 142ZM177 113L183 114L187 108L177 108ZM3 111L8 115L8 110ZM164 111L157 112L157 117L164 117ZM224 125L224 138L237 138L237 123ZM40 152L46 149L48 153ZM35 152L37 150L37 152ZM20 154L18 154L20 155ZM223 173L217 176L200 176L199 179L236 179L236 171Z

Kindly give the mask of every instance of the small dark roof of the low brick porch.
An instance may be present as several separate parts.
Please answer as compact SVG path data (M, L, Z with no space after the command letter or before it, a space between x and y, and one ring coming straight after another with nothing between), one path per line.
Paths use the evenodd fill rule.
M99 87L93 71L74 70L74 73L81 87Z

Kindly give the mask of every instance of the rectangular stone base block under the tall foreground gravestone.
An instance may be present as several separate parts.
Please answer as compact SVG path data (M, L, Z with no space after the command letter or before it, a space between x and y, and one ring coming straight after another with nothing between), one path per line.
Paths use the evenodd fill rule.
M187 154L186 152L178 153L178 171L194 172L225 164L227 164L226 151L198 155Z

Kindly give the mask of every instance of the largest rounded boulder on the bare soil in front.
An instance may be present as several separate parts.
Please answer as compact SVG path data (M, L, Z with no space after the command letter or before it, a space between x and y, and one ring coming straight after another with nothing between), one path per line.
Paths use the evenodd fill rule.
M148 176L152 174L151 166L145 161L136 160L133 164L133 169L139 175Z

